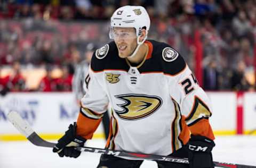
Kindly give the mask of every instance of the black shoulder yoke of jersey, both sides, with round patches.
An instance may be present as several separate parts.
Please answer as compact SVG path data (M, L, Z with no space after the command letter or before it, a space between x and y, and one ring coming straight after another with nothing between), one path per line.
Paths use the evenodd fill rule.
M175 49L155 40L147 41L152 44L153 51L151 57L139 68L140 72L164 72L175 75L186 68L186 62ZM129 68L130 66L125 59L118 56L118 49L114 41L93 53L91 60L91 69L93 71L122 70L128 72Z

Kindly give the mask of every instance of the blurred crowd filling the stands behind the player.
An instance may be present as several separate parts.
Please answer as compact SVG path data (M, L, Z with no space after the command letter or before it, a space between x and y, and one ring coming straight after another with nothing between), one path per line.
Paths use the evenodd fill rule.
M199 39L205 90L255 90L253 0L0 0L1 68L11 68L12 76L18 74L17 67L45 71L33 89L21 75L20 82L10 82L15 77L0 73L0 90L70 91L76 66L90 60L87 52L109 42L109 17L127 4L146 7L151 18L149 39L177 49L193 71ZM51 79L56 67L61 74Z

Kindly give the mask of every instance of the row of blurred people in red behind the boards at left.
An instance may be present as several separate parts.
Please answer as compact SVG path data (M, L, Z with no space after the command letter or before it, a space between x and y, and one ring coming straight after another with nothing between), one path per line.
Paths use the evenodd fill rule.
M68 65L61 66L60 75L53 75L52 66L46 66L45 73L41 75L36 88L26 86L26 75L22 74L19 62L12 64L12 71L0 78L0 95L6 95L9 91L71 91L73 72ZM0 68L0 73L2 69ZM36 80L34 80L36 81Z

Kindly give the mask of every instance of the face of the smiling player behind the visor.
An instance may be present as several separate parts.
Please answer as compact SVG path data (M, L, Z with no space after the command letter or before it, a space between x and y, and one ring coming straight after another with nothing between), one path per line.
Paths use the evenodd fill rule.
M137 47L137 36L134 28L114 28L113 37L121 58L132 55Z

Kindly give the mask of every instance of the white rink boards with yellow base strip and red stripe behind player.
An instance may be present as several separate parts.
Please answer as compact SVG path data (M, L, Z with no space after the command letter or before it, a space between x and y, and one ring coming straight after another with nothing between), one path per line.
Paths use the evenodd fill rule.
M215 135L247 134L256 129L256 94L208 92ZM0 97L0 140L25 139L7 121L10 110L18 111L44 138L57 139L76 121L78 106L71 93L11 93ZM255 133L255 132L254 132ZM103 138L100 125L94 138Z

